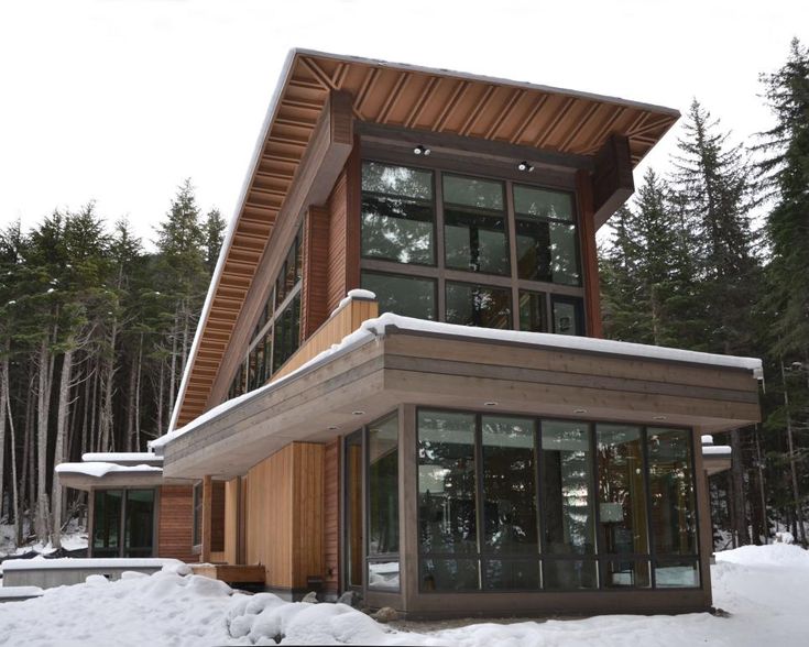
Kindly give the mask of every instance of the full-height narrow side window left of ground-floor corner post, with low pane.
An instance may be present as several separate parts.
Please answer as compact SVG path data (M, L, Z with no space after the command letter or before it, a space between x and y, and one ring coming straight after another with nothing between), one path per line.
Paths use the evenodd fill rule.
M368 428L368 585L398 589L398 415Z

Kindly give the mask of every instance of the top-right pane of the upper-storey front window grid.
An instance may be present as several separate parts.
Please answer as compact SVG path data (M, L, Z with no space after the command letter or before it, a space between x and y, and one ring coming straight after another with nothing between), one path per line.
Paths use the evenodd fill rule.
M514 216L520 278L580 285L572 196L515 184Z

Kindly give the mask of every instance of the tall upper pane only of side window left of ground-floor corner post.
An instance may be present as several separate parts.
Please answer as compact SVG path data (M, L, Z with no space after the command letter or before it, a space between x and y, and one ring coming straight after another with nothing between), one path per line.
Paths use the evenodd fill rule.
M398 552L398 417L368 429L368 553Z

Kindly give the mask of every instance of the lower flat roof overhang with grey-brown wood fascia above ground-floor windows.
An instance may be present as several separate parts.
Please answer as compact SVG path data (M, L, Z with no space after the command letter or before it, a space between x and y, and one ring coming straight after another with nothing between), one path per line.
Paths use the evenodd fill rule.
M733 365L739 358L717 365L708 361L714 355L671 351L684 353L677 359L656 347L584 338L559 346L559 336L511 331L487 339L459 326L424 322L447 331L440 332L385 325L391 321L407 319L367 322L354 342L167 438L165 473L243 474L289 442L331 440L403 403L702 431L759 418L752 360L746 368Z

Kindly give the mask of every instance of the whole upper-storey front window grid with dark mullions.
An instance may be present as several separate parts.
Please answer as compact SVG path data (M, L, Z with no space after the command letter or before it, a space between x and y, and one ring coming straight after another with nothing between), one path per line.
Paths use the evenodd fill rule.
M362 287L380 311L584 333L572 193L365 161L361 218Z

